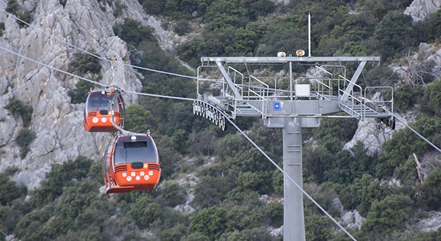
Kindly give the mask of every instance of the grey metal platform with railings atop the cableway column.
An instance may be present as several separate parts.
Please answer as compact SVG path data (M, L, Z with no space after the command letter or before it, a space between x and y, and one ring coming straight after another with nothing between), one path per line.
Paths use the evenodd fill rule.
M331 57L316 58L326 61L360 61L368 57L342 57L332 59ZM376 61L376 57L371 57L371 61ZM384 121L393 117L393 89L392 87L367 87L362 89L356 84L358 76L353 76L350 80L342 75L334 76L327 68L341 67L341 65L316 65L314 76L302 78L302 83L289 81L289 87L282 89L277 87L277 80L263 80L253 75L239 72L234 67L224 68L225 63L233 63L240 60L244 63L254 63L256 61L271 61L271 58L263 60L254 58L252 60L245 57L230 57L225 59L207 58L205 64L215 63L216 65L203 65L204 67L218 67L220 75L214 80L198 78L198 90L203 89L205 81L211 81L211 87L218 90L220 95L212 92L197 93L198 100L207 101L220 108L229 118L236 119L237 116L279 118L279 117L300 117L300 118L325 118L338 117L341 113L347 117L357 118L360 121L366 118L376 118ZM301 61L305 58L296 58ZM313 61L306 58L309 61ZM203 58L204 60L204 58ZM258 61L259 60L259 61ZM224 63L225 62L225 63ZM361 73L365 61L358 67L358 75ZM356 74L357 74L356 72ZM210 72L212 73L212 72ZM199 72L198 72L199 76ZM213 84L214 83L214 84ZM389 92L389 98L384 100L384 93Z

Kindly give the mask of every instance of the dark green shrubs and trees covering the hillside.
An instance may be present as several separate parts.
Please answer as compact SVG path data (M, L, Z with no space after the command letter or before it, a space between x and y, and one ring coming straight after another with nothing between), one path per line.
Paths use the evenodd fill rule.
M14 3L8 3L10 12L17 8ZM367 67L368 82L363 85L394 86L396 109L412 110L411 127L441 146L441 79L430 73L433 64L415 63L416 74L406 80L388 67L418 52L420 43L441 44L441 10L412 23L403 13L409 0L139 3L162 20L163 28L187 40L176 46L176 53L165 52L152 28L124 19L113 30L127 43L132 65L185 75L193 73L179 60L196 68L201 56L275 56L306 49L311 13L314 56L381 56L380 66ZM89 58L76 54L70 68L99 78L101 67ZM196 85L188 79L139 72L141 92L195 96ZM72 103L85 101L83 94L90 87L80 81L70 92ZM19 102L10 105L23 121L28 109ZM10 168L0 174L1 231L23 241L283 240L281 234L270 233L283 225L283 175L234 128L222 132L194 116L189 101L152 97L140 97L127 107L125 120L125 129L132 132L152 129L163 169L156 189L103 194L101 160L84 156L52 165L41 187L32 191L10 179L17 171ZM318 128L304 129L306 191L337 220L336 198L345 210L357 210L366 218L360 229L348 228L357 240L440 240L441 230L408 229L429 212L441 211L441 163L431 163L421 184L413 159L413 153L424 156L433 148L409 129L400 129L381 153L368 155L363 143L343 149L357 123L329 118ZM263 127L258 118L238 118L236 124L282 165L280 129ZM32 132L23 135L32 137ZM388 185L393 180L400 185ZM305 229L307 240L350 240L309 200ZM0 240L6 240L5 235L0 233Z

